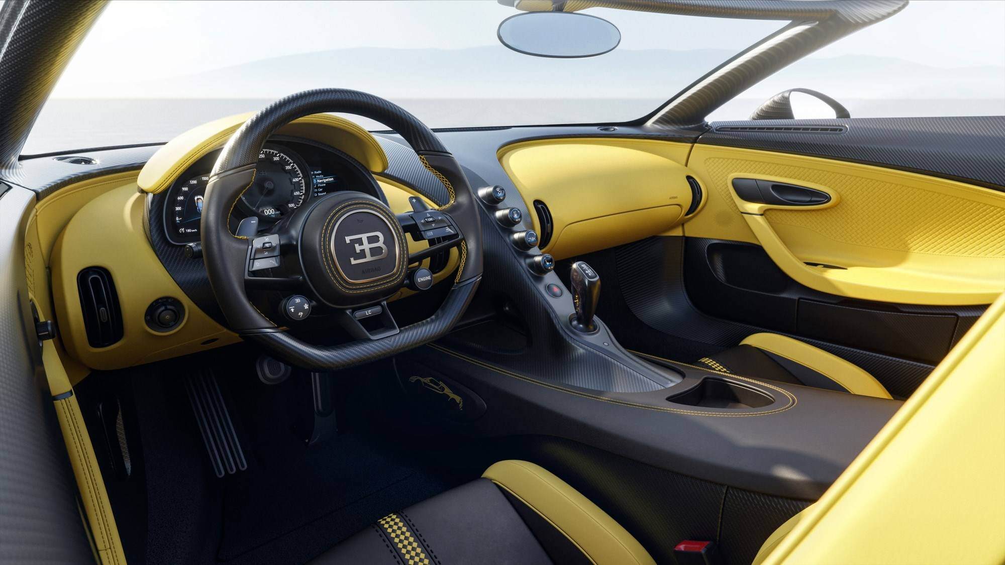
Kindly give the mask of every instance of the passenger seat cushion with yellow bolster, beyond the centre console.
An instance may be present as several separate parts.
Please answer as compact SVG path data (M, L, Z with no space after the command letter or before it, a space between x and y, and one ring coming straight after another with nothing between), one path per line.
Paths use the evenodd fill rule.
M748 336L740 345L703 357L694 364L758 380L891 398L882 384L861 367L778 334Z

